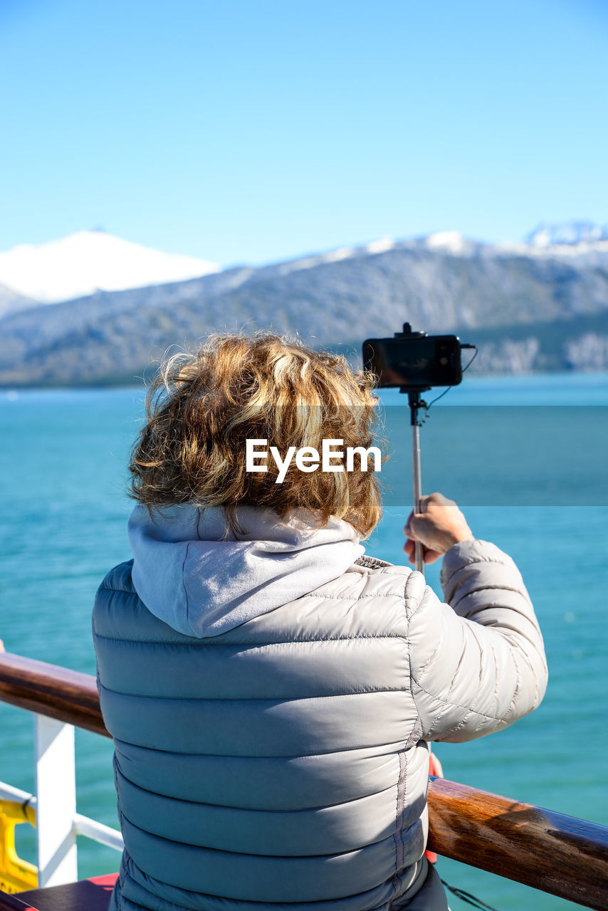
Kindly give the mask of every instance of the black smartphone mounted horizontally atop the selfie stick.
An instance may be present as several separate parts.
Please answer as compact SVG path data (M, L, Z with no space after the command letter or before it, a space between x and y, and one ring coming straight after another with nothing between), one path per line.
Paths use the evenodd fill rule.
M431 386L457 386L462 380L457 335L413 333L408 322L393 338L367 339L363 343L363 365L378 377L381 388L397 387L402 392L422 391Z

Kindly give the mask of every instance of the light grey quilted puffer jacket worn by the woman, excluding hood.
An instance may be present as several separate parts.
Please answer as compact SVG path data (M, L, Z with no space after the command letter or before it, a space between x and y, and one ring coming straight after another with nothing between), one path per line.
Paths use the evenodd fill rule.
M547 680L512 560L451 548L446 604L360 558L202 638L154 616L131 576L108 574L93 624L126 845L111 907L446 908L424 858L428 741L506 727Z

